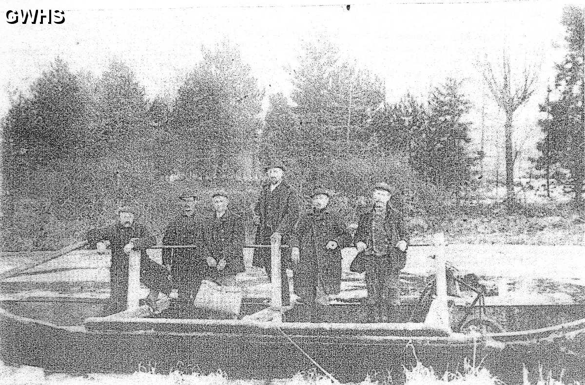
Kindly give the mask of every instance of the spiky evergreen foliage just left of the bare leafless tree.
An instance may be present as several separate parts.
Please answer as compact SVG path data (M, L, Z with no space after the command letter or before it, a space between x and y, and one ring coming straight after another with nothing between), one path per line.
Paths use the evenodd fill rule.
M470 123L464 121L469 101L460 82L447 79L429 95L428 106L407 95L374 114L372 131L386 153L402 153L419 176L459 193L470 185L476 157L467 143Z

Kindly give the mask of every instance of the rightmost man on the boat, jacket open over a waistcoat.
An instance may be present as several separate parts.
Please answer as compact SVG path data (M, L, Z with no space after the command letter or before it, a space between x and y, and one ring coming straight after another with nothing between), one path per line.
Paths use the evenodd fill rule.
M406 263L408 232L400 195L386 183L372 191L373 207L359 219L356 248L365 263L367 303L377 305L380 317L400 305L400 270Z

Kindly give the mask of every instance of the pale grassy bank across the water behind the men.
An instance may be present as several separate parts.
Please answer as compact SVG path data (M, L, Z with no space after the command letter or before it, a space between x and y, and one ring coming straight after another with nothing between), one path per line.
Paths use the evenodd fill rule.
M201 190L202 197L210 197L214 188ZM249 221L249 232L254 229L252 207L256 197L253 185L232 191L235 209ZM180 212L177 194L166 199L140 201L139 220L159 237L168 220ZM211 209L204 200L200 209ZM346 218L357 221L363 209L363 200L346 197L332 202ZM362 206L360 206L362 205ZM115 218L116 205L109 202L101 207L84 209L80 205L63 202L54 204L32 198L3 202L0 223L0 250L54 250L81 239L91 226L102 226ZM437 213L438 212L438 213ZM414 239L421 239L437 231L444 231L450 243L510 243L518 245L585 245L585 216L568 204L520 205L507 211L494 204L446 204L445 209L431 213L412 213L409 218Z

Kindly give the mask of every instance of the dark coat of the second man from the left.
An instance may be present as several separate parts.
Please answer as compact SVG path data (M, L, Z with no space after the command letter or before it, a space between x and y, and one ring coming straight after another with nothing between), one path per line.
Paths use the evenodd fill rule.
M197 214L179 215L168 224L163 245L195 245L194 249L163 249L163 264L172 267L173 276L179 281L189 281L203 273L201 257L202 224Z

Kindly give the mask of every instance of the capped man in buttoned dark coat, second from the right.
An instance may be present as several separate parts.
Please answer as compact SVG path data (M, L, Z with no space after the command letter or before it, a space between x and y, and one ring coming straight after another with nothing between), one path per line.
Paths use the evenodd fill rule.
M301 214L292 232L295 293L307 305L327 304L341 289L341 249L347 246L347 226L329 208L331 191L316 188L311 208Z

